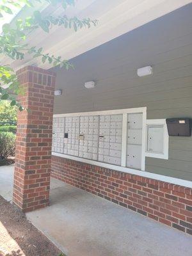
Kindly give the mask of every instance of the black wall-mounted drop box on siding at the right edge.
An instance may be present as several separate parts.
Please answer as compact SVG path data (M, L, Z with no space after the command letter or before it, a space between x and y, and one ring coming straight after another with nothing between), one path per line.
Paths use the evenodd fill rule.
M190 118L168 118L166 124L170 136L191 136Z

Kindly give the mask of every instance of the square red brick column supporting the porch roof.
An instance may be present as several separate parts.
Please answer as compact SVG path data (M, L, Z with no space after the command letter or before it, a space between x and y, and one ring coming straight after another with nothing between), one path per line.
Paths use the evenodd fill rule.
M28 111L18 112L13 204L22 211L49 205L52 143L53 72L25 67L17 72Z

